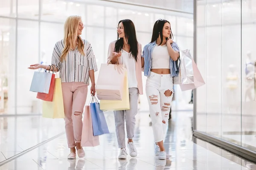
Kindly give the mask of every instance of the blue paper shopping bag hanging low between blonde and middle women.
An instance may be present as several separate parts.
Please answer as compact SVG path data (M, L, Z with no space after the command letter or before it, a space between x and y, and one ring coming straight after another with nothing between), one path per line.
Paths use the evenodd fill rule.
M104 113L99 109L99 102L95 96L93 96L92 103L90 103L90 111L93 123L93 136L109 133Z

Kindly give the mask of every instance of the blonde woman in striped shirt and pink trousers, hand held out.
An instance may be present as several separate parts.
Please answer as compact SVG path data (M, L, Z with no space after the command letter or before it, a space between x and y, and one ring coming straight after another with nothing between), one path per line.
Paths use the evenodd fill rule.
M90 93L95 94L96 59L90 42L82 40L80 37L83 28L81 17L68 17L64 26L64 39L56 42L52 53L52 65L54 70L57 69L60 72L61 77L65 130L67 144L70 148L68 159L76 158L76 149L79 158L84 157L84 150L81 147L82 113L89 78L91 81ZM33 64L29 67L29 69L38 68L50 69L47 65L40 64Z

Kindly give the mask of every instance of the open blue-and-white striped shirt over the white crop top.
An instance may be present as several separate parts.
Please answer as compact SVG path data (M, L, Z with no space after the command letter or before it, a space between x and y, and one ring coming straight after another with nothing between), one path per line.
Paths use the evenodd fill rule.
M150 70L152 66L152 63L151 63L152 53L156 45L157 43L154 41L145 45L143 49L142 57L144 58L144 75L147 77L150 75ZM178 51L178 52L180 51L176 42L173 42L171 46L174 51ZM170 57L170 70L171 70L172 77L178 76L179 70L178 70L177 62L173 61L171 57Z

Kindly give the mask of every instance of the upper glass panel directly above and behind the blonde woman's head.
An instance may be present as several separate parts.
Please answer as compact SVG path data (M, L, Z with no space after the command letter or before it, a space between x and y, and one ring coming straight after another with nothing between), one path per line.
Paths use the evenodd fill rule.
M79 15L85 22L85 5L61 0L41 0L41 20L64 23L68 16Z

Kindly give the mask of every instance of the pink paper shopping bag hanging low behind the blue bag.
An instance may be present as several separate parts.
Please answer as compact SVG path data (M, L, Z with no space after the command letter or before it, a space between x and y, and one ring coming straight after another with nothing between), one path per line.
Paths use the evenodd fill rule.
M81 146L94 147L99 145L99 136L93 136L93 123L90 106L85 106Z

